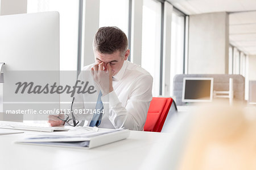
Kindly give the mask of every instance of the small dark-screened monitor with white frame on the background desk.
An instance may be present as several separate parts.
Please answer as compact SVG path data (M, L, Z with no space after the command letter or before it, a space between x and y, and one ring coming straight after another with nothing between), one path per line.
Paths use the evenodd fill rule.
M185 77L183 102L210 102L213 98L213 78Z

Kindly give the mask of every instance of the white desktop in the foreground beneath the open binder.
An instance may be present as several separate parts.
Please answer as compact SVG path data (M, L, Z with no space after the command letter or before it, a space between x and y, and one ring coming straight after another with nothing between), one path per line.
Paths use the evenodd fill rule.
M91 150L14 143L31 133L0 135L0 169L172 169L171 134L131 131Z

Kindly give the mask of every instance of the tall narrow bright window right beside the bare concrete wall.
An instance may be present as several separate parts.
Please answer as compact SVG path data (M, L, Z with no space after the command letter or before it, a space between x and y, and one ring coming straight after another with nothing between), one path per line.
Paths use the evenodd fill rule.
M170 95L176 74L183 74L185 16L175 10L172 13Z

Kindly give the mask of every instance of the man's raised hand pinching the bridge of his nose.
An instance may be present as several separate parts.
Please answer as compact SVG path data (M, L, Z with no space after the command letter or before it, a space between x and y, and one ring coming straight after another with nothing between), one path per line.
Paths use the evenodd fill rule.
M103 96L113 91L112 85L112 68L110 64L100 63L93 66L91 69L94 81L101 89Z

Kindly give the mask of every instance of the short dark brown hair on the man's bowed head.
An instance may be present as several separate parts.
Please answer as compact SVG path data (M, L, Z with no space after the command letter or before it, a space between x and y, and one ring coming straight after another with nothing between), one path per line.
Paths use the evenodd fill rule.
M118 50L125 53L128 48L127 36L118 27L101 27L94 36L93 48L100 53L112 54Z

